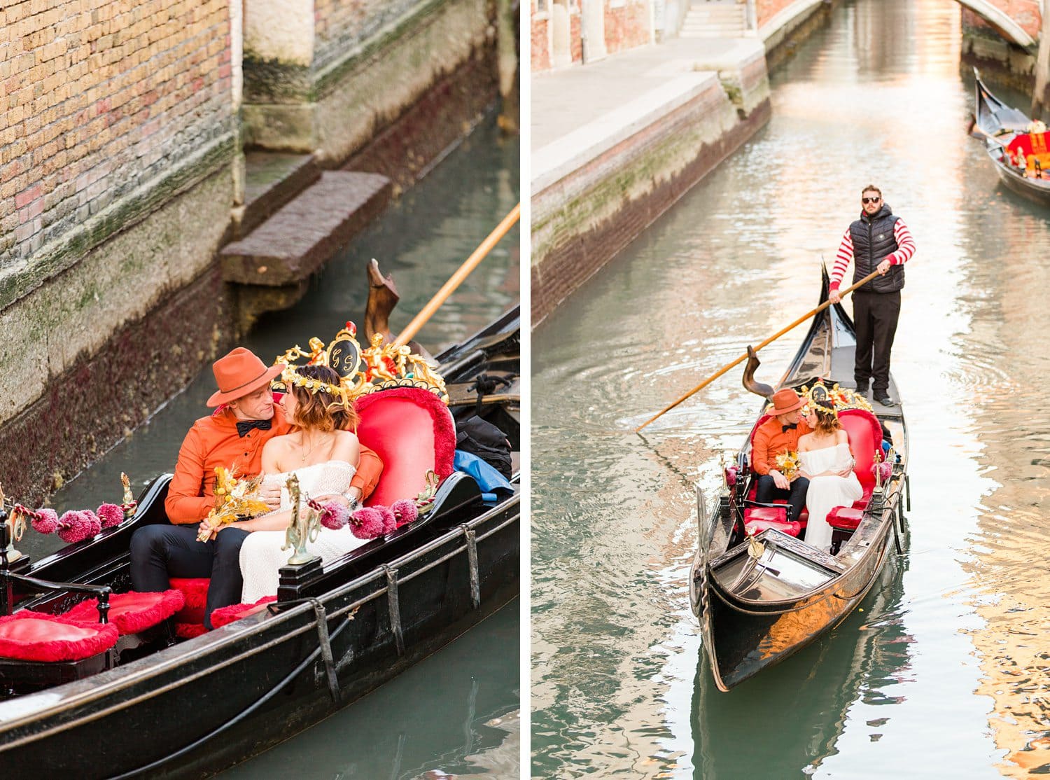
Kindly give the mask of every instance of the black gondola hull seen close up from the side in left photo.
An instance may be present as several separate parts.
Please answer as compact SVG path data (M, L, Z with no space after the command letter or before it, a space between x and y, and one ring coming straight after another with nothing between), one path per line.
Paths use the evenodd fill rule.
M438 356L454 418L480 414L506 434L511 494L483 496L474 479L454 472L425 520L335 562L304 567L310 570L301 575L286 577L289 569L282 569L279 598L268 608L178 644L166 646L162 637L152 648L128 651L143 654L133 660L110 651L106 666L112 668L80 679L47 686L34 678L32 663L0 662L6 692L0 761L7 774L211 774L331 715L514 598L519 333L514 308ZM486 376L487 384L478 381ZM502 380L500 392L490 387L486 396L494 379ZM169 480L165 475L145 489L133 519L30 566L24 556L8 563L3 550L0 565L40 579L127 590L131 533L167 522ZM9 526L2 529L6 534ZM83 597L68 590L40 595L10 577L0 586L19 609L61 612ZM26 679L42 690L21 693Z

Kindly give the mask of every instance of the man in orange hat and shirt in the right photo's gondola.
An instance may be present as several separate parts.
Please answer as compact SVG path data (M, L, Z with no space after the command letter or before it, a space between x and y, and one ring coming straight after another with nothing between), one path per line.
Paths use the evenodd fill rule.
M776 457L797 452L798 440L810 433L810 426L798 415L804 402L791 387L774 393L772 401L772 417L758 426L751 448L751 469L759 475L755 501L772 504L774 499L786 499L791 507L788 520L798 520L805 508L810 481L804 477L789 481L776 467Z

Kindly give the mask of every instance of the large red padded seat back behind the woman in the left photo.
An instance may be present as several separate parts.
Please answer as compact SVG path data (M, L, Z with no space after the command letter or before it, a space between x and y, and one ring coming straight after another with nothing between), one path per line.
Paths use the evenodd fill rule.
M394 387L370 393L357 400L357 410L358 439L383 462L379 483L364 502L369 506L416 498L432 468L442 480L453 472L456 423L429 391Z

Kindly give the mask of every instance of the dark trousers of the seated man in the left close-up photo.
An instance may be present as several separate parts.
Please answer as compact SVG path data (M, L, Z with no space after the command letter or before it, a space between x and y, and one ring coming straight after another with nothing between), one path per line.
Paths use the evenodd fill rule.
M140 592L167 590L169 577L211 577L204 625L211 612L240 604L240 545L248 531L227 528L197 542L197 525L148 525L131 534L131 586Z

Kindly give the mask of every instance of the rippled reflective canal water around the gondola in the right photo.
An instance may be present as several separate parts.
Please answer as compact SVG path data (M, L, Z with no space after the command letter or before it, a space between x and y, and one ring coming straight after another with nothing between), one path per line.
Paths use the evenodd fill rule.
M1050 772L1050 225L966 134L960 16L836 7L772 78L769 125L533 334L534 777ZM714 494L755 398L734 371L631 431L816 305L869 183L918 247L892 363L906 551L834 632L722 694L689 609L693 485Z

